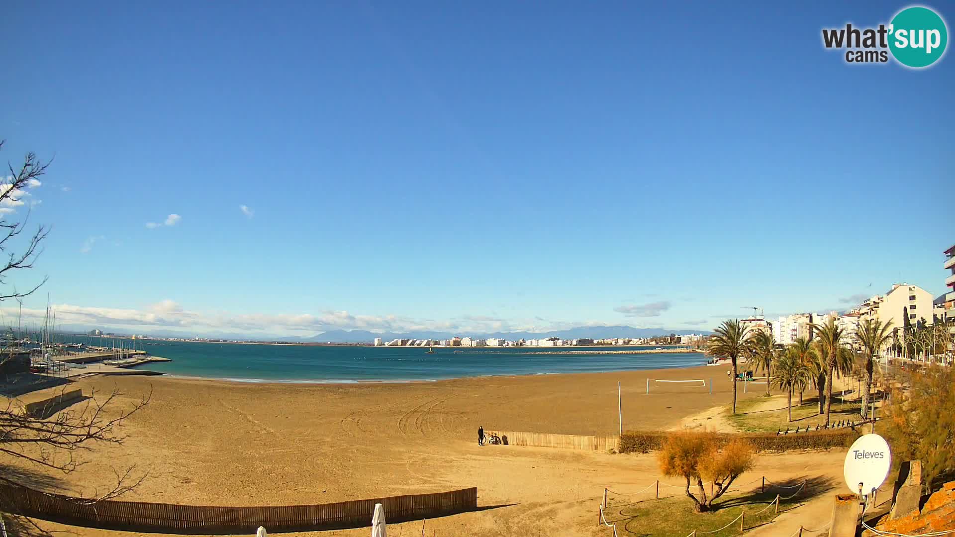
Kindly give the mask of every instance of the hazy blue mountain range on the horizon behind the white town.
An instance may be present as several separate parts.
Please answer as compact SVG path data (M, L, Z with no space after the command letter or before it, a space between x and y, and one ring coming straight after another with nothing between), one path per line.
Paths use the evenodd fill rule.
M472 338L487 339L489 337L503 338L507 340L518 339L540 339L541 337L560 337L561 339L578 339L581 337L590 337L593 339L604 339L609 337L652 337L654 335L668 335L675 333L685 335L688 333L704 333L709 331L700 330L667 330L662 328L633 328L628 326L582 326L567 330L557 330L552 332L495 332L495 333L450 333L450 332L405 332L405 333L374 333L365 330L333 330L319 333L308 338L282 338L282 341L308 341L308 342L331 342L331 343L371 343L375 337L380 337L384 341L392 339L451 339L452 337L469 335Z

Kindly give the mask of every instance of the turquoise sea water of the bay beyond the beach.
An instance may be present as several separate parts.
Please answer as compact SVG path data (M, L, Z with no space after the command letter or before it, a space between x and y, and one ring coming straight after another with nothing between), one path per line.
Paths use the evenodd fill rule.
M127 341L128 344L128 341ZM254 381L359 382L437 380L462 376L598 373L703 364L698 353L568 354L567 349L318 347L138 341L149 354L170 358L142 369L177 376ZM633 347L631 349L654 349ZM620 347L595 348L610 349ZM582 350L574 348L573 350Z

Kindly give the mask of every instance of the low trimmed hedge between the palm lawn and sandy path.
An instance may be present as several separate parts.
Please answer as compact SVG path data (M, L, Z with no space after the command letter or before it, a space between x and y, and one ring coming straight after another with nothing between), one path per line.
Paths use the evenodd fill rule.
M626 431L620 436L620 453L647 453L663 447L667 441L665 431ZM841 429L811 431L808 433L719 433L722 443L733 439L750 440L756 451L797 451L802 449L829 449L849 447L859 438L859 431L850 427Z

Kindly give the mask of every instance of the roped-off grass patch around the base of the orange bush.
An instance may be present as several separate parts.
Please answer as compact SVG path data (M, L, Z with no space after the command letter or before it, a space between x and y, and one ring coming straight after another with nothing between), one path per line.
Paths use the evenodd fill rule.
M695 492L695 487L690 489ZM605 508L607 522L617 524L619 535L641 535L652 537L687 537L694 529L699 532L712 531L718 527L730 524L730 521L743 516L743 527L752 529L771 522L776 516L775 506L763 510L775 499L775 492L766 493L728 493L716 501L718 509L712 512L700 513L696 504L686 496L673 496L661 500L645 500L633 504L626 504L625 500L608 500ZM615 503L616 502L616 503ZM781 500L779 513L799 505L799 500ZM755 514L763 510L762 513ZM727 537L739 535L740 525L737 520L731 526L710 533L713 537Z

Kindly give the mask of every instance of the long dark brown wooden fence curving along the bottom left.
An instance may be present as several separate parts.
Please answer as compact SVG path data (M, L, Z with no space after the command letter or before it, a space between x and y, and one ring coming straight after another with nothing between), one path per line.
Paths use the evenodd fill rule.
M320 505L209 506L151 504L47 494L0 482L3 510L72 526L181 534L254 534L371 526L375 504L385 506L388 522L452 515L477 508L477 488L433 494L407 494Z

